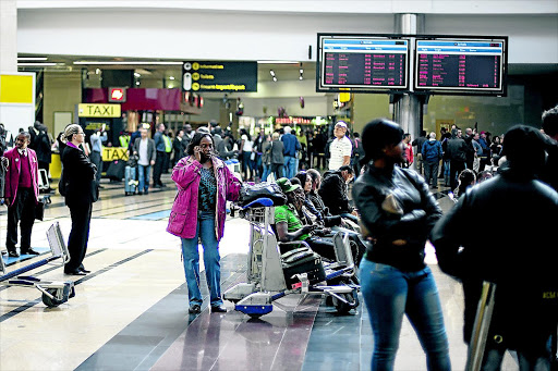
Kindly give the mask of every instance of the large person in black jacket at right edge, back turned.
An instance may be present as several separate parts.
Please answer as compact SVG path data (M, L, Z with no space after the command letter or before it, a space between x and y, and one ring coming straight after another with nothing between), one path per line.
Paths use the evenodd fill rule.
M482 282L496 283L495 307L483 370L498 370L506 349L518 351L521 369L548 370L548 339L558 321L558 194L537 181L545 138L534 127L506 133L507 162L499 175L468 190L434 227L440 269L462 280L464 339L469 343ZM498 210L495 218L493 210ZM519 217L520 215L520 217ZM463 233L474 221L499 233Z

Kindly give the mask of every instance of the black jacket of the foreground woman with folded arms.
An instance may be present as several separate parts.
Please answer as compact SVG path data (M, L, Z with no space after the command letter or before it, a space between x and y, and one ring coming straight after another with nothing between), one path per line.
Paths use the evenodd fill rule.
M401 214L386 211L383 206L390 194L401 207ZM418 174L398 166L383 170L371 165L356 180L353 199L361 222L376 239L368 246L366 259L401 271L418 271L425 267L424 246L441 217L441 209ZM404 239L407 245L392 245L396 239Z

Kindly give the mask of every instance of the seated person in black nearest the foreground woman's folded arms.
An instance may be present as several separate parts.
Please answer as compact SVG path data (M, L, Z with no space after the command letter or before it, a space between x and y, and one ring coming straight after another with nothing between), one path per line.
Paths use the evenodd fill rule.
M329 212L333 215L348 218L359 223L356 211L349 205L347 184L353 178L353 169L351 165L344 165L336 171L328 171L324 174L324 180L318 194L324 200Z

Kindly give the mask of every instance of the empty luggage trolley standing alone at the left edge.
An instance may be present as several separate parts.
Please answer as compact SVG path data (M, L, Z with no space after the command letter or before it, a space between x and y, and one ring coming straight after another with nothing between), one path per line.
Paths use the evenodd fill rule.
M47 231L47 239L50 245L51 257L22 267L12 272L5 271L3 259L0 259L0 285L35 287L43 293L43 302L49 307L58 307L75 296L74 283L72 281L43 281L31 275L20 275L36 268L49 264L51 261L62 259L61 265L70 260L70 253L64 244L62 232L58 222Z

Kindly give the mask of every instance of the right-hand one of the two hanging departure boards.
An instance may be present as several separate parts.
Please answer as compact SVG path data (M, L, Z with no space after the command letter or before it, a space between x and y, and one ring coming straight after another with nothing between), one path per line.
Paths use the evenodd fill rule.
M506 94L507 38L416 39L414 90Z

